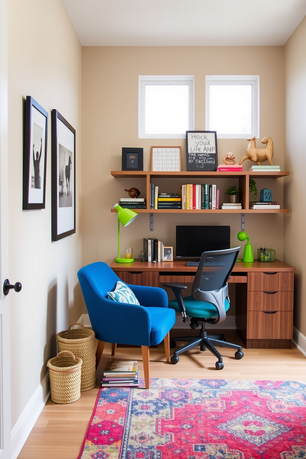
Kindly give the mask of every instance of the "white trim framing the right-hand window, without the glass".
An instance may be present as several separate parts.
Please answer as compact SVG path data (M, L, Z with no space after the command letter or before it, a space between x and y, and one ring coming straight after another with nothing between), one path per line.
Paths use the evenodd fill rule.
M259 75L206 75L205 129L210 129L209 86L210 84L251 84L252 85L252 122L250 136L259 137ZM219 139L245 139L245 134L219 134Z

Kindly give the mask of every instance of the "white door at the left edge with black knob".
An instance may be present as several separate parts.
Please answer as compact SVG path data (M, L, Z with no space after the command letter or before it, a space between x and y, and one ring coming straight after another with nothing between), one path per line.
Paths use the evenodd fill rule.
M0 458L11 458L10 309L8 276L7 0L0 0ZM14 282L15 283L15 282Z

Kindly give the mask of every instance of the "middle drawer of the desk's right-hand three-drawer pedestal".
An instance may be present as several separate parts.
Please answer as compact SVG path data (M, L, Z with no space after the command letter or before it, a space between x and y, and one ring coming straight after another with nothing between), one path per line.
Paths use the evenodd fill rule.
M248 291L248 311L293 311L293 291Z

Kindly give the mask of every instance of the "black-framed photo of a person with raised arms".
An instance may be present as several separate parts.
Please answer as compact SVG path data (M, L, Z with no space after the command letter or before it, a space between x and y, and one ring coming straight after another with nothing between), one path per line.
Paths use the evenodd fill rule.
M27 95L22 210L45 209L48 112Z

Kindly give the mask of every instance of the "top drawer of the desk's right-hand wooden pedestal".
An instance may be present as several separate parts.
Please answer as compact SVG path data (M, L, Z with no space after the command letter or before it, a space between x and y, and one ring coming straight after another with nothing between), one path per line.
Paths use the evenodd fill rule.
M248 273L249 291L293 291L294 273Z

